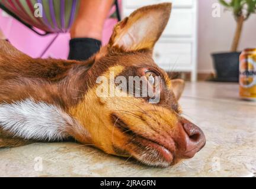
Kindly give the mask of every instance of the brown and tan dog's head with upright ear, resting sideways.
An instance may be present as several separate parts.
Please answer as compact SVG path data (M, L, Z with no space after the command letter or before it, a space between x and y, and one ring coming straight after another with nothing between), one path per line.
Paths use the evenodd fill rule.
M203 148L201 129L181 116L183 80L170 80L152 58L170 12L168 3L145 6L116 25L87 71L87 92L69 110L89 133L78 141L160 167Z

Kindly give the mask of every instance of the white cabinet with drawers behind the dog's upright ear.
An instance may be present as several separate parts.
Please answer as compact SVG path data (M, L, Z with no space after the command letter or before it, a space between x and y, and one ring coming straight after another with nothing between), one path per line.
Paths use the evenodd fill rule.
M161 2L172 2L171 18L155 46L153 57L167 71L189 71L197 79L197 0L123 0L122 16L135 9Z

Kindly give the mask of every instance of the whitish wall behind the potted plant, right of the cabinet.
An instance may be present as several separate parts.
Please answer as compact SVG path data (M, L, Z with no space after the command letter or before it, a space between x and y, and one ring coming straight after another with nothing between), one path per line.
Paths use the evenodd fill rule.
M182 1L182 0L181 0ZM220 18L213 18L212 5L217 0L199 1L199 34L198 34L198 70L199 73L209 73L213 71L213 52L229 51L232 38L235 34L236 23L231 11L221 9ZM256 15L245 22L242 32L239 50L244 48L256 48Z

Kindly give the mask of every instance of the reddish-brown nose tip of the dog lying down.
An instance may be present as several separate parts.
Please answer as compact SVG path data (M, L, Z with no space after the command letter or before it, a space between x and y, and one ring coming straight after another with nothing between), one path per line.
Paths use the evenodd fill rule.
M206 144L206 138L203 131L188 120L183 122L183 128L185 131L185 151L182 155L184 158L192 158Z

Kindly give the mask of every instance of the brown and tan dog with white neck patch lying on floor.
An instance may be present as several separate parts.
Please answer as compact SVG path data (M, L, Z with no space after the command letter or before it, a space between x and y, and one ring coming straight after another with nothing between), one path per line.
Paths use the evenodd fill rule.
M205 138L181 117L177 99L184 82L170 80L152 59L170 12L167 3L138 9L116 25L110 43L88 61L34 59L1 41L0 147L71 137L146 165L167 167L193 157ZM159 102L99 97L97 78L110 79L110 73L161 77ZM149 86L155 91L154 83Z

